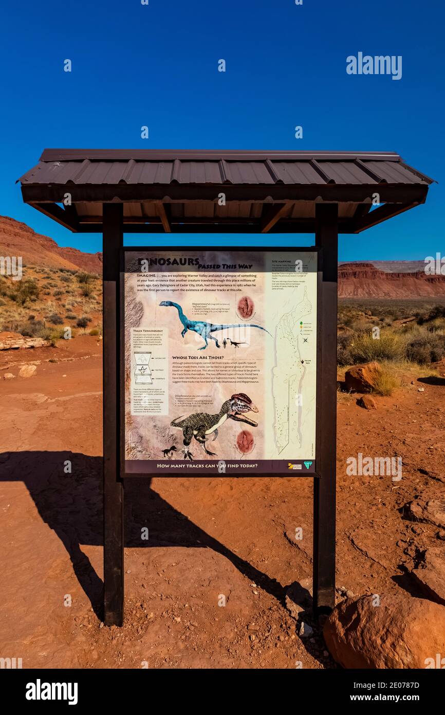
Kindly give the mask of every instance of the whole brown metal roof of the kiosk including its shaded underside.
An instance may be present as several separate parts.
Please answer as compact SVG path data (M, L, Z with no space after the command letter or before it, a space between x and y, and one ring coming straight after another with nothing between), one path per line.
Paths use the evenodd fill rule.
M102 202L118 201L124 223L147 232L224 225L299 232L314 221L319 201L338 202L339 230L357 232L401 212L399 204L423 203L433 182L394 152L214 149L45 149L19 180L26 202L71 230L101 230ZM66 192L71 206L57 207ZM386 207L380 214L369 212L376 192ZM271 221L274 204L279 216ZM389 204L398 204L394 212Z

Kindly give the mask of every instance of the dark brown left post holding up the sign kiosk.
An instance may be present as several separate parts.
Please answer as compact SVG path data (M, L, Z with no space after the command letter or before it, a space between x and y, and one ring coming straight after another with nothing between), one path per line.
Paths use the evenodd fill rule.
M124 620L124 485L121 481L119 255L123 204L103 204L104 623Z

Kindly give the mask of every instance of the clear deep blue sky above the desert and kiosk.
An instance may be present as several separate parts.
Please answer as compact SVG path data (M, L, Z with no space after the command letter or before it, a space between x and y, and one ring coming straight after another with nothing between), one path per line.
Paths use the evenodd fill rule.
M101 235L71 234L21 201L14 182L44 147L396 151L439 186L424 206L341 236L340 259L444 255L444 15L439 0L4 4L0 213L101 250ZM402 78L346 74L359 51L401 55Z

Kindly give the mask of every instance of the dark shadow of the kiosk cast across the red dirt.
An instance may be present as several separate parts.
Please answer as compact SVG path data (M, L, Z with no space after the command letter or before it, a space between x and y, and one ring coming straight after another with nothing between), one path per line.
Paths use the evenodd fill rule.
M24 482L39 515L64 544L76 578L102 619L103 582L81 550L81 545L104 545L102 458L72 452L0 453L0 480ZM126 478L124 488L125 546L211 548L284 603L285 588L280 583L173 508L151 488L151 478ZM141 541L143 527L149 528L149 541Z

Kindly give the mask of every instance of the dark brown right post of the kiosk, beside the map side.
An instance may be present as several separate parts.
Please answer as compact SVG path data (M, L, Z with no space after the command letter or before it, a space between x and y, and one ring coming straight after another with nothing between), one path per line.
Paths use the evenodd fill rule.
M321 366L317 375L314 479L314 613L335 605L338 204L316 204L316 246L321 247ZM319 268L320 271L320 268Z

